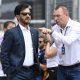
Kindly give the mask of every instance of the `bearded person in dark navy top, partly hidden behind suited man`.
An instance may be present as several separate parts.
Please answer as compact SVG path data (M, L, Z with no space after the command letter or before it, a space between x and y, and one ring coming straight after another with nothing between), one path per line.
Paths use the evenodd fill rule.
M36 80L48 80L47 78L49 74L47 72L46 59L44 57L46 44L47 44L46 36L40 32L39 34L39 52L38 52L40 72L38 73Z

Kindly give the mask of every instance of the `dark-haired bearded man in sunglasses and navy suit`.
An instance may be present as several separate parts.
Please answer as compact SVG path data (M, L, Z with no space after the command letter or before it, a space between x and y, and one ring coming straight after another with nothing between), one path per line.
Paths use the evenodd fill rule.
M4 34L1 62L8 80L36 80L38 63L38 30L31 27L30 5L18 4L14 14L18 25ZM36 44L35 44L36 41Z

